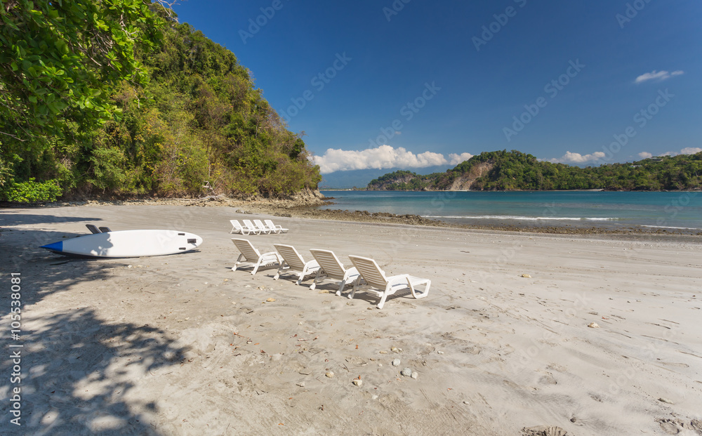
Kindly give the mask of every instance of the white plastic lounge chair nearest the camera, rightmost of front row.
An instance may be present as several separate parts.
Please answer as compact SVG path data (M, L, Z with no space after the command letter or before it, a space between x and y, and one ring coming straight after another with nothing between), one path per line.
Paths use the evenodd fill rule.
M349 293L349 298L353 298L358 289L364 288L364 291L380 297L378 309L382 309L385 299L402 289L409 288L414 298L424 298L429 294L429 288L432 286L430 279L420 279L408 274L385 277L385 272L380 269L375 260L361 256L349 256L349 258L360 274L353 285L353 290ZM423 292L418 292L415 289L416 286L420 285L425 285Z

